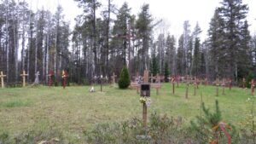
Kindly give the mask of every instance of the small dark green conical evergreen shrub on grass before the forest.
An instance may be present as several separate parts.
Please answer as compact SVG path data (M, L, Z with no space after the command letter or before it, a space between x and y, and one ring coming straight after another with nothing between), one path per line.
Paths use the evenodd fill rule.
M130 83L131 82L128 69L126 66L124 66L119 77L119 89L127 89Z

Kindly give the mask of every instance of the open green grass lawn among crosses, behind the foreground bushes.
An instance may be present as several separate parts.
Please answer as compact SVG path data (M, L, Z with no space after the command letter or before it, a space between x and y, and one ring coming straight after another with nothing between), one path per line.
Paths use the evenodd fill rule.
M89 89L89 86L0 89L0 132L15 135L24 130L55 129L75 140L96 124L142 117L142 104L136 89L104 86L100 92L100 87L96 86L95 93L90 93ZM211 110L214 110L215 100L219 101L224 122L239 125L250 111L247 104L250 89L225 89L225 95L219 89L218 97L215 90L215 87L200 85L194 95L194 87L190 86L189 99L185 99L185 85L180 85L172 95L171 85L163 84L160 95L152 89L148 113L182 117L183 122L189 124L200 115L202 94Z

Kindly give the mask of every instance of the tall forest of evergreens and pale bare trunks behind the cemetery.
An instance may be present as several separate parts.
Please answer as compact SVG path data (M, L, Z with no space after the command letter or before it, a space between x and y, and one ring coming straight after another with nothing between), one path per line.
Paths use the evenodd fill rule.
M183 22L183 34L154 35L162 20L143 4L137 14L124 3L117 8L111 0L74 0L79 14L71 29L60 5L33 11L26 1L0 2L0 71L5 81L20 83L25 70L32 83L39 72L47 83L50 71L61 81L61 71L76 84L90 84L95 76L110 76L127 66L130 77L148 69L156 75L197 78L241 78L256 74L256 35L248 30L248 6L241 0L223 0L212 11L207 37L201 27ZM105 8L106 7L106 8ZM172 32L168 32L172 33Z

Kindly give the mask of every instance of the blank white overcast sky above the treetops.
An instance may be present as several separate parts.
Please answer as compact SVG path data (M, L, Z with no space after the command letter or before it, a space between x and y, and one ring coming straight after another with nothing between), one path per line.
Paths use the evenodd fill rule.
M28 3L32 3L32 9L42 8L51 9L55 11L58 3L64 9L65 19L74 25L74 18L81 14L81 9L77 7L78 3L73 0L27 0ZM107 7L108 0L100 0L102 7ZM166 21L165 29L163 28L155 30L155 32L165 31L179 37L183 32L183 21L189 20L191 25L191 31L194 30L196 22L201 26L201 37L207 36L207 30L209 28L209 22L214 14L214 9L218 7L222 0L112 0L118 8L122 6L124 2L127 2L131 8L132 14L138 14L143 3L149 3L150 13L156 20L163 19ZM247 20L249 30L251 34L256 32L256 0L243 0L243 3L247 3L249 6L249 12L247 14Z

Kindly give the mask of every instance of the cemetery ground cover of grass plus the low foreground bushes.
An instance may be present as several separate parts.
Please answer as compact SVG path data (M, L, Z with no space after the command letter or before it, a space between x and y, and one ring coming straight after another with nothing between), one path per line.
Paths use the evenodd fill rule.
M151 89L147 129L141 122L142 104L136 89L113 85L104 86L103 92L99 86L95 93L89 89L0 89L0 143L199 143L201 129L190 122L198 125L198 118L207 119L205 112L214 114L216 100L220 120L232 127L230 134L236 130L235 143L255 143L256 108L249 89L226 89L225 95L216 97L214 87L200 86L196 94L202 94L205 107L201 108L201 95L194 95L192 86L187 100L185 85L172 95L170 84L163 84L160 95ZM227 141L222 132L220 135L219 141Z

